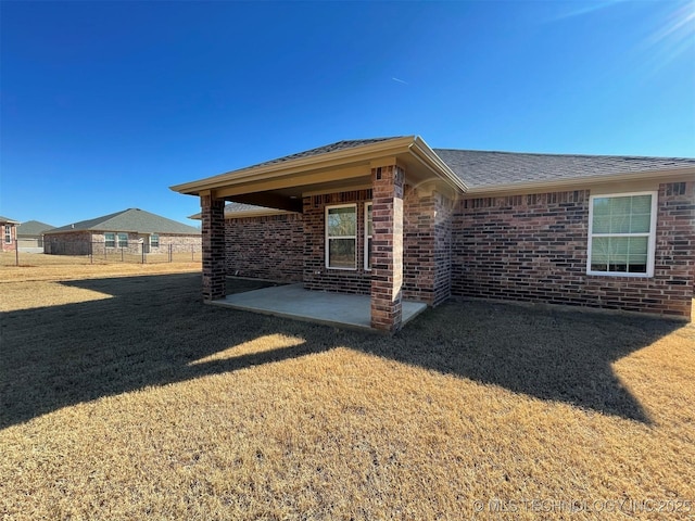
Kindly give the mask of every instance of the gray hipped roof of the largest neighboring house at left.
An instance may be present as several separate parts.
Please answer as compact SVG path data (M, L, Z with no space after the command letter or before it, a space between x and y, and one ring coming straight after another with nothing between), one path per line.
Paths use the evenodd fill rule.
M151 214L140 208L128 208L93 219L53 228L48 233L65 231L134 231L140 233L173 233L199 236L198 228Z

